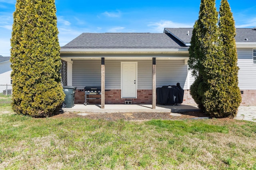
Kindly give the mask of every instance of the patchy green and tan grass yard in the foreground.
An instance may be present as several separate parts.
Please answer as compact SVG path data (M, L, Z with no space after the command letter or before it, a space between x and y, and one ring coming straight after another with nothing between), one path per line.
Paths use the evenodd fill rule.
M36 119L0 108L0 169L256 170L256 123Z

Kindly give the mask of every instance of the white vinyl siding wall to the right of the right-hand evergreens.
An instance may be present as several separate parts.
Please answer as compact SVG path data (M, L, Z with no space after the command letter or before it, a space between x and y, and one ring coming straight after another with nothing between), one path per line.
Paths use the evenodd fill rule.
M256 90L256 64L252 64L252 49L238 49L237 53L240 90Z

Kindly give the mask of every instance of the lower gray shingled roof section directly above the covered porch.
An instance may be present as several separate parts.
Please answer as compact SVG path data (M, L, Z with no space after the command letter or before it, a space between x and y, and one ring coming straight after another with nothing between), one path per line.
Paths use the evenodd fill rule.
M61 49L187 49L166 33L82 33Z

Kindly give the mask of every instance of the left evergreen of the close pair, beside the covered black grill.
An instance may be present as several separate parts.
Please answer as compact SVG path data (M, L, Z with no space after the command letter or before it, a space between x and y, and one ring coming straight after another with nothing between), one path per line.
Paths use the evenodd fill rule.
M209 113L208 106L213 104L208 100L214 93L211 90L216 83L218 58L222 54L217 23L215 0L201 0L199 18L194 25L191 39L188 64L196 78L190 88L190 94L198 107L206 113Z

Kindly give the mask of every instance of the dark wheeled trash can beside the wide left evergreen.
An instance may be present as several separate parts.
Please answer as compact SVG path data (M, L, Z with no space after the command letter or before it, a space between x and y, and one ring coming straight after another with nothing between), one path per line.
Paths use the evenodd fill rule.
M66 94L66 96L64 102L62 103L62 108L74 107L76 87L63 86L63 91Z

